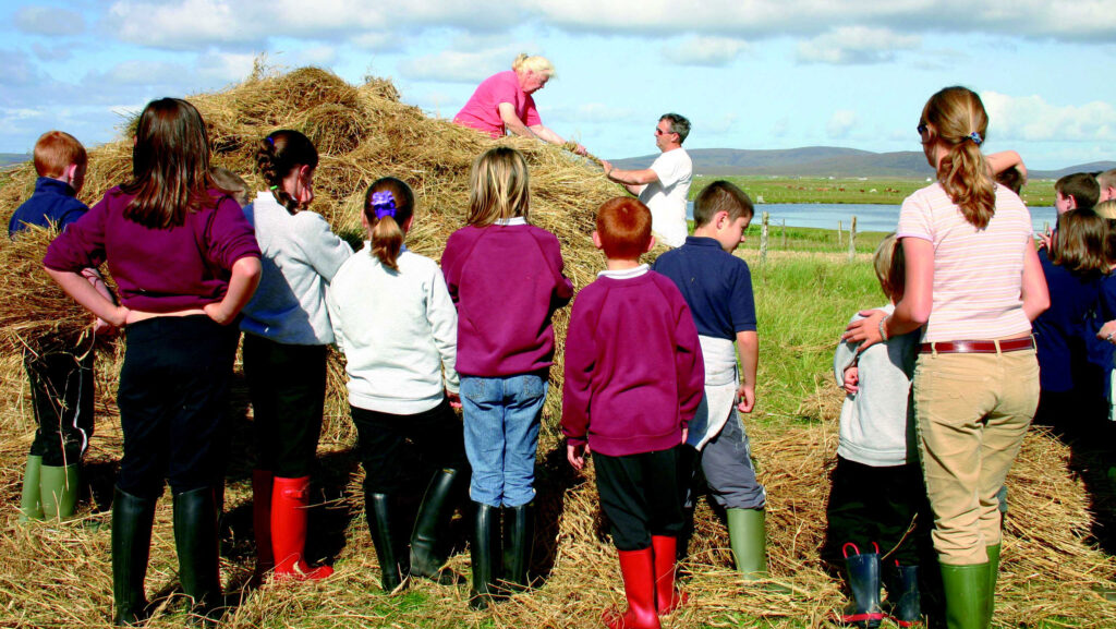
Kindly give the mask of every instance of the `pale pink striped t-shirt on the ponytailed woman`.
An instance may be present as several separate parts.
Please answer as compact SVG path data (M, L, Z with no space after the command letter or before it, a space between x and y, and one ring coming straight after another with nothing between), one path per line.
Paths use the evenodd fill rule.
M923 342L1030 332L1021 289L1031 216L1014 192L997 185L995 215L978 230L934 183L903 201L896 236L934 245L933 307Z

